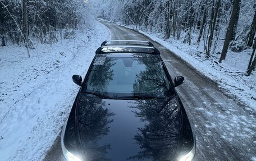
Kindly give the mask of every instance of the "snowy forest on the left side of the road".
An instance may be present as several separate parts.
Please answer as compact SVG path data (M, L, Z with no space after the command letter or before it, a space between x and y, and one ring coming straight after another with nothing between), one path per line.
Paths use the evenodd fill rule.
M22 43L33 49L33 40L51 44L58 41L58 36L69 38L74 35L72 29L88 27L86 7L83 0L1 0L1 44L7 45L7 41Z

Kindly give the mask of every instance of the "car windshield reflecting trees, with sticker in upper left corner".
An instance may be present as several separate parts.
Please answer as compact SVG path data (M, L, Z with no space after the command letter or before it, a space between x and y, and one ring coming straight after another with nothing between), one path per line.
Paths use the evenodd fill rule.
M97 57L82 92L110 96L165 97L170 83L157 57Z

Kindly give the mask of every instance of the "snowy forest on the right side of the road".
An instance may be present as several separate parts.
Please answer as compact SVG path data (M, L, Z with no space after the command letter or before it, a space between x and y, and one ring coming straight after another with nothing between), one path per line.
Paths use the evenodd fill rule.
M219 62L226 59L228 49L243 52L254 48L247 74L255 68L256 1L104 0L94 3L99 6L95 8L102 19L154 31L164 39L182 38L184 43L203 47L201 52L206 58L217 53Z

